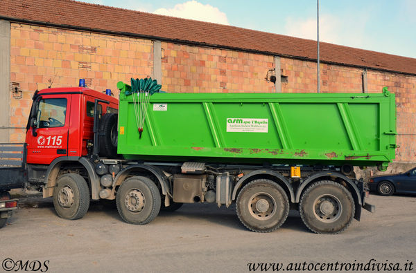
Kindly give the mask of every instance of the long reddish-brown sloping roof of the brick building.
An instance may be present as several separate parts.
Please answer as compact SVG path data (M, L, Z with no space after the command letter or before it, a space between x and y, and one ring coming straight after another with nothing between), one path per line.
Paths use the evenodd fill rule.
M178 43L316 59L316 41L71 0L3 0L0 18ZM416 59L320 43L320 60L416 75Z

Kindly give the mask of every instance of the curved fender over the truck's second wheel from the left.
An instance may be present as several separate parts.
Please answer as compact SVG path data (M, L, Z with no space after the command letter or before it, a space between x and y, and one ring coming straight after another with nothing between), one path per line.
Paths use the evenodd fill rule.
M130 171L148 171L150 173L153 173L153 175L157 178L159 181L160 187L162 188L162 194L166 196L170 192L170 186L168 183L168 179L166 178L166 175L163 173L163 171L157 167L151 166L151 165L145 165L145 164L135 164L131 165L125 169L122 169L119 173L117 173L116 177L114 178L113 185L112 185L112 196L114 197L114 193L116 190L116 186L121 185L121 182L123 182L124 178L128 176Z

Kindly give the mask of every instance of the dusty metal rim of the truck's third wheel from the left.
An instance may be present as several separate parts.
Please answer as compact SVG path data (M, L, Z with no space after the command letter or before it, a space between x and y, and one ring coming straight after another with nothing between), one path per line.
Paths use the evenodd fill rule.
M272 218L276 213L275 208L276 200L265 192L254 194L248 202L248 211L250 211L251 216L258 220Z

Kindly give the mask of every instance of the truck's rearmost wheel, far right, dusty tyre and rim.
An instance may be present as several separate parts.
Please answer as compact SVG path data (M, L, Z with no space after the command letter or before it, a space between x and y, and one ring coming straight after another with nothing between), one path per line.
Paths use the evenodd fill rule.
M343 232L355 213L351 193L343 185L329 180L309 186L302 194L299 207L303 223L317 234Z

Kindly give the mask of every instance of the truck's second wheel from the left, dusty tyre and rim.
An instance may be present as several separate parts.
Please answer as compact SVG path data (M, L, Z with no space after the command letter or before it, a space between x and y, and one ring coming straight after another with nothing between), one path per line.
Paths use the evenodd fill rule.
M116 204L125 222L146 225L159 214L159 189L152 180L144 176L128 178L117 190Z

